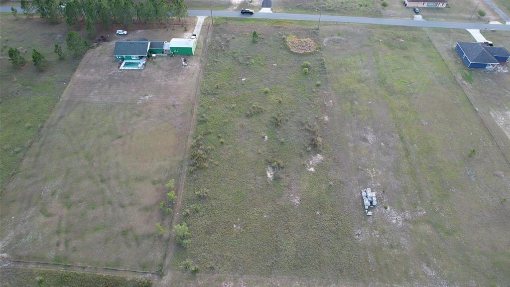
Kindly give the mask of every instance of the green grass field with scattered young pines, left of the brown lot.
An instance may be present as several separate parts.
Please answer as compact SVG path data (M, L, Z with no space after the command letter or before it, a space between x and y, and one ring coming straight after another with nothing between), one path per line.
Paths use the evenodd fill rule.
M0 190L4 190L17 172L41 127L52 113L67 83L71 79L80 58L68 57L58 60L53 53L54 45L65 49L65 24L49 25L40 19L14 19L3 14L0 19L2 47L0 64L0 85L2 85L2 105L0 105L0 141L2 161L0 163ZM10 47L21 48L27 64L15 69L9 62L7 53ZM37 49L48 60L44 71L32 64L32 49Z

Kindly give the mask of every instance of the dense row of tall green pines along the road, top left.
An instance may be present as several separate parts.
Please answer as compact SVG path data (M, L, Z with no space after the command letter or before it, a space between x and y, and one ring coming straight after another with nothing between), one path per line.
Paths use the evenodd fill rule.
M87 32L94 35L97 24L107 29L112 23L122 23L125 28L134 22L167 23L175 18L183 20L188 15L184 0L22 0L21 10L27 17L38 14L50 23L64 19L67 26L79 27L85 23Z

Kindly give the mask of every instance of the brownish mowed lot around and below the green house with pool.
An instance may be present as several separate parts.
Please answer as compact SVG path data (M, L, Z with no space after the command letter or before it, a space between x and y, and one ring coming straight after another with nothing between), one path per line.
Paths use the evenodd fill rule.
M177 27L124 39L181 36ZM119 70L113 40L83 58L3 194L10 258L149 271L162 264L171 215L158 204L180 172L199 56L185 68L180 57L159 57L142 71Z

